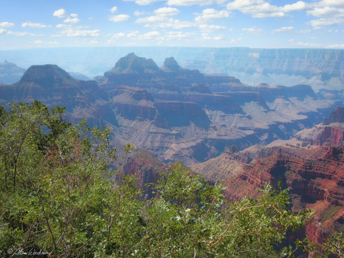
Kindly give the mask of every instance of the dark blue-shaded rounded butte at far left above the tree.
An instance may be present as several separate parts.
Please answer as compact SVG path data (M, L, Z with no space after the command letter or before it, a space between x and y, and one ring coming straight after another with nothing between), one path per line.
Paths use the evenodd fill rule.
M0 87L1 104L40 100L48 107L66 107L70 120L88 118L91 125L117 125L107 93L94 80L76 80L57 65L34 65L19 82Z

